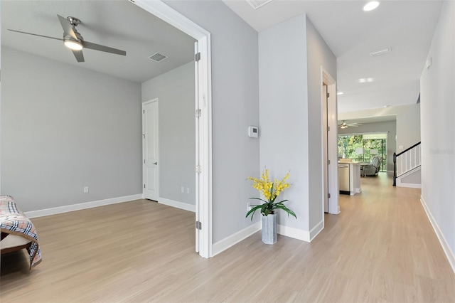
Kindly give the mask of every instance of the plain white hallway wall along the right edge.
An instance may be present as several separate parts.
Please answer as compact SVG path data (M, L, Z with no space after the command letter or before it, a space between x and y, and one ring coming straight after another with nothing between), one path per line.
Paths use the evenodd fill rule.
M422 202L455 271L455 2L445 1L420 79ZM451 256L451 259L450 259Z

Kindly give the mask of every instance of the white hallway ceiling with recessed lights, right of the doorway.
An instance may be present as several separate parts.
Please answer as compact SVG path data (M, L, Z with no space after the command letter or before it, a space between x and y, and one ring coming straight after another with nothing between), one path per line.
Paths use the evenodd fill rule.
M256 31L299 14L309 17L337 58L338 112L417 102L419 78L439 18L441 1L274 0L252 9L245 0L223 0ZM382 48L391 53L371 57ZM372 83L359 83L373 78Z

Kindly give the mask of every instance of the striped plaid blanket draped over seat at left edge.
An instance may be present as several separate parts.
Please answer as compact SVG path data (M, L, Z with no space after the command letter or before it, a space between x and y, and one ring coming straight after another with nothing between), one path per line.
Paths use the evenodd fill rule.
M1 233L21 235L21 237L31 240L31 246L27 249L30 255L30 269L41 262L36 228L16 206L16 202L11 196L0 196L0 229Z

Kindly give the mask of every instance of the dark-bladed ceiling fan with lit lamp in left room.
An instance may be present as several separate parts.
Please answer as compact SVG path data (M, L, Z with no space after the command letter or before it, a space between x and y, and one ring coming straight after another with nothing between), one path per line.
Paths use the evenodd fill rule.
M109 48L109 46L102 46L100 44L84 41L84 38L82 38L80 33L76 30L76 26L80 23L80 20L78 18L71 16L69 16L68 18L63 18L60 15L57 16L63 28L63 39L38 35L36 33L26 33L25 31L15 31L14 29L9 29L9 31L14 31L16 33L26 33L27 35L63 41L65 46L67 48L70 48L70 50L73 52L77 62L85 62L84 55L82 54L82 48L100 50L105 53L114 53L117 55L127 55L127 52L124 50L119 50L117 48Z

